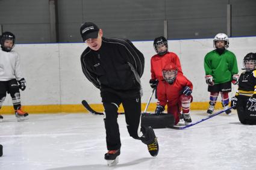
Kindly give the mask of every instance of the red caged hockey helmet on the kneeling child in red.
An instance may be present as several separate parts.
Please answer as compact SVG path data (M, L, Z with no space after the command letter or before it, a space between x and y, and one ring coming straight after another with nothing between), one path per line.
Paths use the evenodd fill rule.
M176 79L178 68L174 63L171 62L166 64L166 66L162 70L162 73L163 73L164 80L172 84Z

